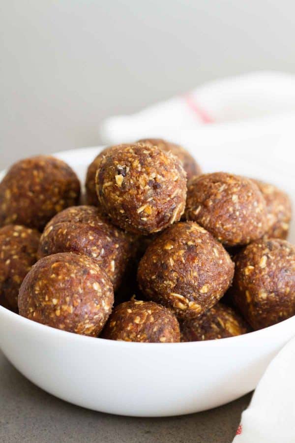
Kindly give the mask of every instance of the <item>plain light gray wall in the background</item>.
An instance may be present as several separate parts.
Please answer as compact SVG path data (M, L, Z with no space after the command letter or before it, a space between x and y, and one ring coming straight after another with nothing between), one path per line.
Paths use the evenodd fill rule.
M2 0L0 168L206 80L295 72L293 0Z

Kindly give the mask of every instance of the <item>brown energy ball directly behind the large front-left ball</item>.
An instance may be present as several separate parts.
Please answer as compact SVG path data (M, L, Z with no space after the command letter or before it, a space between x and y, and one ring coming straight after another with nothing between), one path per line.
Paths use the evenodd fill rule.
M118 289L134 253L130 235L113 226L94 206L73 206L57 214L45 227L38 256L73 252L88 255Z

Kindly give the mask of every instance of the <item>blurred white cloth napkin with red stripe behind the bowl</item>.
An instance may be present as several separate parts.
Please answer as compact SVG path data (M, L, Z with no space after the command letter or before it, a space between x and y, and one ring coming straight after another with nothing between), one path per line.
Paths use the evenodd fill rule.
M99 131L106 145L160 137L197 158L222 149L240 162L252 157L293 175L295 76L262 71L209 82L137 114L108 118Z

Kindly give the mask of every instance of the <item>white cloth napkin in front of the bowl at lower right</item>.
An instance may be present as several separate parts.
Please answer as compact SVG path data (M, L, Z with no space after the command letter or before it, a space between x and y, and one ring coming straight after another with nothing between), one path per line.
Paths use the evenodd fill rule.
M233 443L295 442L295 338L266 369Z

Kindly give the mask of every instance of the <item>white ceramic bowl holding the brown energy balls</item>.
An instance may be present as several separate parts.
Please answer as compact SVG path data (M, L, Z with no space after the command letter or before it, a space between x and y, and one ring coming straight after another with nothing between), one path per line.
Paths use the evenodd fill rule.
M99 148L59 153L84 181ZM292 176L208 149L206 171L260 177L295 195ZM295 225L290 240L295 241ZM127 343L53 329L0 307L0 348L29 380L85 408L133 416L204 411L255 388L271 358L295 335L295 316L239 337L191 343Z

